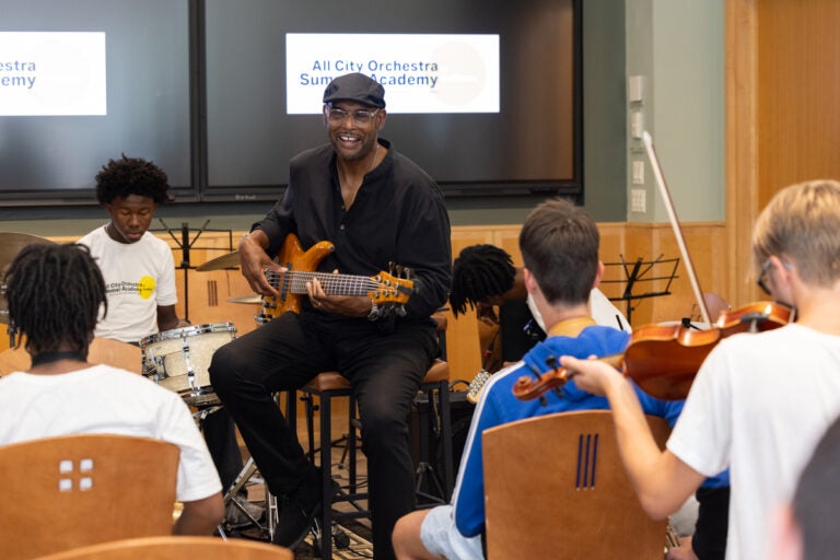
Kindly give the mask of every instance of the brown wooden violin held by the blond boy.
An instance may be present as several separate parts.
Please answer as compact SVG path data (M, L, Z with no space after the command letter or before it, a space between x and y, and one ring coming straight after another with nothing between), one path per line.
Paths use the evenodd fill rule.
M663 400L688 396L700 365L718 342L738 332L760 332L786 325L793 310L772 302L756 302L721 313L708 330L684 325L645 325L634 330L622 354L602 358L635 382L648 395ZM520 400L530 400L552 388L562 387L571 377L564 368L539 376L524 375L513 386Z

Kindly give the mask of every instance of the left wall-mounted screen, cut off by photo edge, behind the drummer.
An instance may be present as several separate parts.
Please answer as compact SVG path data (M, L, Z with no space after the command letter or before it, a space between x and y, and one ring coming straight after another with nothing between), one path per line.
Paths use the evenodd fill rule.
M4 203L89 203L121 153L195 195L190 141L187 0L0 0Z

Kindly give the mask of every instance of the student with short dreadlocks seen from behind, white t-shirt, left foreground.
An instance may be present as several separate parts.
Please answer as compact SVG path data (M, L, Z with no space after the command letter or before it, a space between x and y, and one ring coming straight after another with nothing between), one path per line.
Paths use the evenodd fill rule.
M174 534L211 535L221 482L186 404L135 373L88 362L105 282L88 247L30 245L5 276L9 316L32 366L0 383L0 444L75 433L154 438L178 446ZM106 310L107 311L107 310Z

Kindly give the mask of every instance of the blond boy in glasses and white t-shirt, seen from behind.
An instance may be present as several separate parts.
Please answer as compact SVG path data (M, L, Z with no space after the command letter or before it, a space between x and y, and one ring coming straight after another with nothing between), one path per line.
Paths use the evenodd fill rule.
M660 452L630 383L596 361L563 357L578 385L606 395L642 506L674 511L705 476L732 477L726 558L769 558L770 514L790 501L817 441L840 416L840 183L788 187L759 215L752 258L796 323L721 341Z

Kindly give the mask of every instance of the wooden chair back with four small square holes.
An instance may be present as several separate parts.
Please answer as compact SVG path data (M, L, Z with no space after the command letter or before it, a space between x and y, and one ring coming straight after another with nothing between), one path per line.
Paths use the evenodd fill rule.
M171 443L110 434L0 446L0 558L171 535L179 454Z

